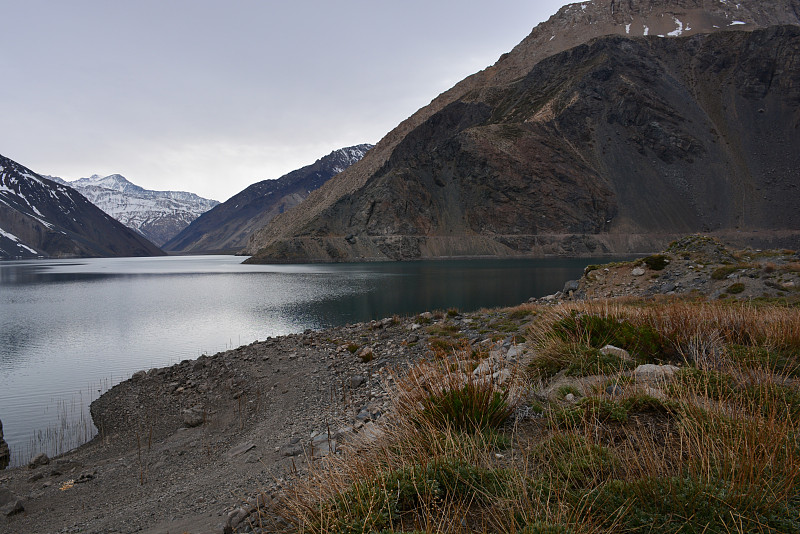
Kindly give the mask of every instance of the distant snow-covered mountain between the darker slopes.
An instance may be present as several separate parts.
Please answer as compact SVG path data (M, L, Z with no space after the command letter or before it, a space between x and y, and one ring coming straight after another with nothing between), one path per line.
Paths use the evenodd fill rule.
M77 189L95 206L159 246L219 204L194 193L144 189L119 174L95 174L72 182L48 178Z

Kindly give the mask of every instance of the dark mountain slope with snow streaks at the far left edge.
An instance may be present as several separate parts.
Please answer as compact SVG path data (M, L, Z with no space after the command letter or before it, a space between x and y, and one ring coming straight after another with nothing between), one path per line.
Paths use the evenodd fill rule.
M163 254L76 190L0 155L0 259Z

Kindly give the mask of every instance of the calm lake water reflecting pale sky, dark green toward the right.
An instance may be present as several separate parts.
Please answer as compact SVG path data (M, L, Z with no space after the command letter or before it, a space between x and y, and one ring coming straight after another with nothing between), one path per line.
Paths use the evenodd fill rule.
M140 369L308 328L515 305L554 293L596 263L242 265L242 259L0 262L0 420L12 460L90 438L89 403Z

